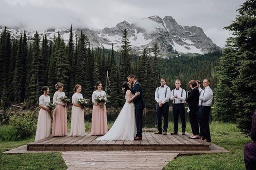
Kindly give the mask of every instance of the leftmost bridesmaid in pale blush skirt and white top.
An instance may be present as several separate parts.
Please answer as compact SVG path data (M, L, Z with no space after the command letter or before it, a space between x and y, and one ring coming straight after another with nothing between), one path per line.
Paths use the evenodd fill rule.
M50 136L51 133L51 110L48 109L46 106L51 101L49 94L49 88L47 86L43 86L41 90L41 95L39 97L39 114L38 114L38 121L37 121L37 132L35 134L35 141L40 140L43 138L47 138Z

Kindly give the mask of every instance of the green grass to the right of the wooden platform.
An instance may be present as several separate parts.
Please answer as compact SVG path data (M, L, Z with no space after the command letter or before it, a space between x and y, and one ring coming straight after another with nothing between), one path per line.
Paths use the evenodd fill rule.
M190 124L186 125L187 132L191 133ZM172 127L170 124L170 132ZM179 156L170 161L164 170L245 170L244 145L250 142L250 138L245 138L236 125L231 123L212 122L210 131L212 143L231 153Z

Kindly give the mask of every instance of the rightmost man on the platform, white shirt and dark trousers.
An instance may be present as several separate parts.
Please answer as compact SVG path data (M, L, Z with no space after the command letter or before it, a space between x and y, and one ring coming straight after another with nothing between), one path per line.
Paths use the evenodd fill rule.
M204 90L201 91L199 97L199 121L202 127L202 139L206 142L211 142L209 116L211 111L211 102L213 101L213 91L210 88L210 80L203 80Z

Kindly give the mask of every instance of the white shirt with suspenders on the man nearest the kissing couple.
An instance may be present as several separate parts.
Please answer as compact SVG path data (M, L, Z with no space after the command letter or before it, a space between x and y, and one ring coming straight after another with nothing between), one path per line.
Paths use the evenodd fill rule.
M165 96L165 92L166 92L166 96ZM171 90L168 86L164 85L164 87L159 86L158 88L156 88L156 92L155 92L156 102L158 103L161 102L162 104L165 104L166 102L169 101L170 96L171 96Z

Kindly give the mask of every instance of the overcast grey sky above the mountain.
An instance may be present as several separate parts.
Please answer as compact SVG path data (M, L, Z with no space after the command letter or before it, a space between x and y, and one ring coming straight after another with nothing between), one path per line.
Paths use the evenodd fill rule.
M172 16L182 26L199 26L220 47L230 32L223 29L245 0L0 0L0 26L29 30L114 27L123 20L139 22Z

